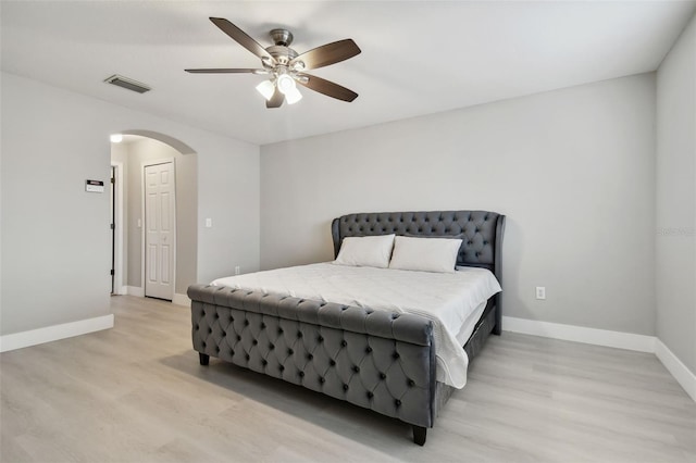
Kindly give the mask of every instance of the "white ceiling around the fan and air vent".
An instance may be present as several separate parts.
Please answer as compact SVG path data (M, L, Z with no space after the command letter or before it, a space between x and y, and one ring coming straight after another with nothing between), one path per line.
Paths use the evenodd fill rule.
M265 145L654 71L695 1L7 1L2 71ZM303 52L352 38L362 53L310 72L357 91L352 103L300 87L268 110L259 67L209 16L264 47L286 27ZM103 84L121 74L138 95ZM147 128L147 127L141 127Z

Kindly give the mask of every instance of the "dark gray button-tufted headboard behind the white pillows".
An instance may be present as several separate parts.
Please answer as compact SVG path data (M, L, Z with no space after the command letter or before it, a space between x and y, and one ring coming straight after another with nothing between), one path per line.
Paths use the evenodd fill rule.
M489 211L371 212L332 222L334 255L349 236L410 235L462 238L457 265L488 268L502 281L505 215Z

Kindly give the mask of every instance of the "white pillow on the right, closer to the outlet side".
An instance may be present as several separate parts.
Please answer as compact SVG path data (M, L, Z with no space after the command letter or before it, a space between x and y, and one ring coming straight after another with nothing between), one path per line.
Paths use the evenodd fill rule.
M397 236L389 268L453 273L461 239Z

